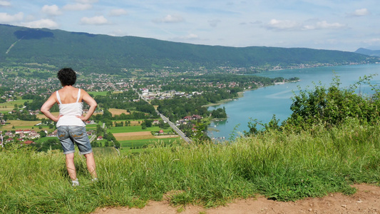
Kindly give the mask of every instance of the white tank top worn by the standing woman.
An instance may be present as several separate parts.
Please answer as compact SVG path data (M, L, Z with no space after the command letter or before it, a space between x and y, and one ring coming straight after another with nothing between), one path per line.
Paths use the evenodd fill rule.
M57 99L59 106L59 118L56 127L58 126L86 126L86 123L81 120L81 118L77 118L76 116L81 116L83 114L83 103L78 102L81 97L81 89L78 90L78 98L76 98L76 103L65 103L61 102L61 98L59 97L58 91Z

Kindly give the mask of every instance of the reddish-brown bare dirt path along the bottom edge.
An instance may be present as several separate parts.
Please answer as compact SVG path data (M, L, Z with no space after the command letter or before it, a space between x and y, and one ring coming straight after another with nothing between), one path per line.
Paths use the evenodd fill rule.
M366 184L354 185L354 195L329 194L323 198L307 198L295 202L267 200L262 196L247 200L235 200L225 206L205 209L187 205L185 208L170 206L168 200L151 201L144 208L98 208L93 214L248 214L248 213L380 213L380 187Z

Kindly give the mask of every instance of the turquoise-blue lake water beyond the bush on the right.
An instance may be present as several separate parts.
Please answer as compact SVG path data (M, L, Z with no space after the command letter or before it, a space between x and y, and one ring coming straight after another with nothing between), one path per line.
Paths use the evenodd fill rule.
M302 68L282 71L266 71L256 74L257 76L284 78L298 77L300 81L296 83L284 83L281 85L267 86L253 91L245 91L242 98L235 101L223 103L219 106L211 106L209 110L225 107L227 120L213 121L207 133L210 138L228 139L241 135L243 131L248 131L248 122L257 119L262 123L268 123L275 115L280 121L287 119L292 111L292 97L299 93L298 86L302 90L313 89L314 85L329 86L333 78L338 76L341 86L348 88L359 81L359 78L374 74L371 84L380 87L380 64L335 66L322 68ZM356 90L357 93L371 93L371 87L361 84ZM257 128L261 128L257 126Z

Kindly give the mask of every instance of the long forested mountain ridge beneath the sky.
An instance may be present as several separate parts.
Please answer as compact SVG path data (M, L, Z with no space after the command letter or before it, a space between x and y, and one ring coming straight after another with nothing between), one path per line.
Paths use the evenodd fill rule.
M0 65L46 63L84 72L120 73L123 69L164 67L273 68L274 66L374 63L378 55L363 51L304 48L205 46L0 24Z

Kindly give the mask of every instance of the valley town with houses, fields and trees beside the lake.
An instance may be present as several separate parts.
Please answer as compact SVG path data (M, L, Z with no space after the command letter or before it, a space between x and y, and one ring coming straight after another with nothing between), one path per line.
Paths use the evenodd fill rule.
M88 91L98 102L98 109L87 126L94 146L119 147L118 141L125 145L123 142L126 142L125 136L129 133L128 126L150 130L151 136L173 137L181 132L183 138L197 136L206 139L210 119L227 118L222 108L207 111L206 106L210 103L237 98L245 90L297 81L296 77L287 80L280 77L243 76L242 73L247 72L245 68L218 68L222 73L205 68L182 73L178 69L166 67L152 72L134 70L125 76L106 73L84 75L78 71L76 87ZM48 67L24 65L0 68L0 72L0 130L4 132L4 143L34 144L40 138L56 136L55 124L39 112L46 98L60 88L55 77L56 71ZM57 106L51 111L58 112ZM171 128L170 123L174 124ZM23 126L26 128L21 129ZM120 127L125 127L125 130L119 130L118 133L113 131ZM120 133L125 133L125 136ZM103 139L103 136L110 137Z

